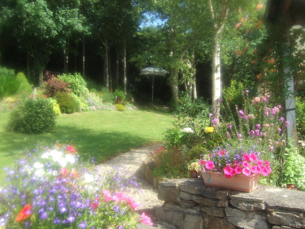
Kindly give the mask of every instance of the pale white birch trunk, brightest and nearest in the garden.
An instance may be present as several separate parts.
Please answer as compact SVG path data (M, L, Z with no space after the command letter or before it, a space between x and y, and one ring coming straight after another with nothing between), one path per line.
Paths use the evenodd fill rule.
M217 118L215 127L219 126L220 104L221 104L221 73L220 73L220 37L216 32L213 45L212 56L212 114L213 118Z

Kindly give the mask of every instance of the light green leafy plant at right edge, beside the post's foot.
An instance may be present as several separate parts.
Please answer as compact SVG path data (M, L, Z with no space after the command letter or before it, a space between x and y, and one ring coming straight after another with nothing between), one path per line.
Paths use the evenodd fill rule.
M305 158L298 154L298 149L291 143L285 148L285 163L280 174L279 183L293 184L298 190L305 191Z

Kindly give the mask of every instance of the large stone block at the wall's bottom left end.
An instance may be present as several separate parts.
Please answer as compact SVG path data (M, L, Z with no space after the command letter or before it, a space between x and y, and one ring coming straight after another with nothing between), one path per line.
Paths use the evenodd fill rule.
M205 225L201 215L179 212L163 206L156 209L156 217L182 229L203 229Z

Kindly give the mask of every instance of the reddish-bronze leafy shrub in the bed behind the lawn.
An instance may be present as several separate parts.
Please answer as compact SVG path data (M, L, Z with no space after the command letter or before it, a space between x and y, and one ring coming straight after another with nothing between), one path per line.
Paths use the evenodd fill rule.
M62 79L53 77L43 85L43 93L48 97L54 97L59 92L69 93L69 83L65 83Z

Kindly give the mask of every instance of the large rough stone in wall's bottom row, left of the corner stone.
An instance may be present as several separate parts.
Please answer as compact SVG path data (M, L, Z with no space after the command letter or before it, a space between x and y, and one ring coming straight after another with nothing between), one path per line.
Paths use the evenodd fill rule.
M227 207L225 213L229 223L244 229L269 229L269 225L264 213L245 212L239 209Z

